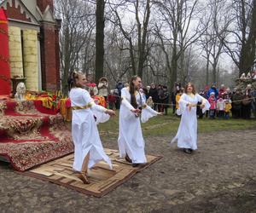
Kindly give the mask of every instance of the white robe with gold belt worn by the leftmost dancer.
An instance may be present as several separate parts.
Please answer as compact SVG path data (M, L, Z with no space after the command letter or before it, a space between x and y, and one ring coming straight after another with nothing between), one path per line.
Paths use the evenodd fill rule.
M84 158L88 153L90 153L89 169L101 160L106 161L112 168L111 161L103 150L94 118L96 115L97 123L107 121L109 115L105 113L106 108L96 105L85 89L71 89L69 96L72 107L84 107L92 103L90 108L73 110L72 136L75 147L73 170L82 170Z

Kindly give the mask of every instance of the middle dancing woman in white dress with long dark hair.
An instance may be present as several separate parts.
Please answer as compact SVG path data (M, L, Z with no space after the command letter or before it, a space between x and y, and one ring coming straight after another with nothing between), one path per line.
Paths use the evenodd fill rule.
M129 87L121 90L122 101L119 112L119 155L134 167L147 163L140 115L144 123L149 118L161 114L146 105L143 95L139 92L141 83L141 78L134 76Z

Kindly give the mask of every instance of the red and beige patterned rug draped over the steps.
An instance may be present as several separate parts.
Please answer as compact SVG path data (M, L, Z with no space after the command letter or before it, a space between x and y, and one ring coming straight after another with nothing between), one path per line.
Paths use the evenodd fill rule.
M0 156L24 171L73 153L63 118L38 101L0 101Z

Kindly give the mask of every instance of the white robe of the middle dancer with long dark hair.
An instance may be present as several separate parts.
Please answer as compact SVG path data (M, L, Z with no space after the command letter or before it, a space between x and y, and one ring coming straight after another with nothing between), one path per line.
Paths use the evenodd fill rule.
M131 106L131 95L129 88L123 88L121 90L121 107L119 111L119 155L120 158L124 158L127 153L131 158L133 164L147 163L145 156L145 143L143 140L143 132L141 128L140 118L136 117L131 112L134 107ZM158 114L152 108L145 106L143 95L137 92L136 95L137 104L139 107L143 107L141 120L142 122L148 121Z

